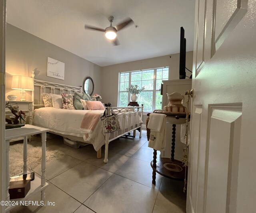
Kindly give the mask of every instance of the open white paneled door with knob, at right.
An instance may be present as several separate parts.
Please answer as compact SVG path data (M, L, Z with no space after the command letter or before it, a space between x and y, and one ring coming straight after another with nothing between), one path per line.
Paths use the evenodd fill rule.
M256 212L256 1L196 0L187 212Z

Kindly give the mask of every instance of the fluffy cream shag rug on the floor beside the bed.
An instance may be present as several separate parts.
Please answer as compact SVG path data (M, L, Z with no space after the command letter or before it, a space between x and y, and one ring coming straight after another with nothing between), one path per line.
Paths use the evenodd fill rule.
M64 153L59 150L46 149L46 162L57 160L64 157ZM42 147L28 144L28 171L34 169L42 160ZM23 144L14 144L10 146L10 177L23 172Z

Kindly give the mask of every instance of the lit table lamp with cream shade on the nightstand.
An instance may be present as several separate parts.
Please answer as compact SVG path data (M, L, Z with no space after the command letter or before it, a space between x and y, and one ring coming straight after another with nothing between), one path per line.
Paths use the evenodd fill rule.
M34 90L33 79L26 76L14 75L12 76L12 89L20 90L20 94L21 94L20 101L26 101L25 90L28 90L28 91Z

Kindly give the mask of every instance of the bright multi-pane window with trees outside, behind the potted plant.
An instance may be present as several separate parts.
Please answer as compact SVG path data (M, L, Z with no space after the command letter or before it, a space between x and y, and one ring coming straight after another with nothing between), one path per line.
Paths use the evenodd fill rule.
M169 68L155 68L140 71L119 73L119 97L118 106L127 107L132 94L126 92L126 88L132 85L145 87L138 95L137 102L144 104L144 111L152 112L162 108L162 96L160 95L162 80L168 80Z

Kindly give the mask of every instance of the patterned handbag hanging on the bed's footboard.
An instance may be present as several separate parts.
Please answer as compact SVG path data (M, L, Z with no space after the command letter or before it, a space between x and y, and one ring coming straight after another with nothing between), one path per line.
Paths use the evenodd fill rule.
M108 115L108 109L104 111L104 114L100 119L102 120L103 132L110 133L120 130L120 124L118 120L118 115L114 113L112 107L110 110L110 114Z

